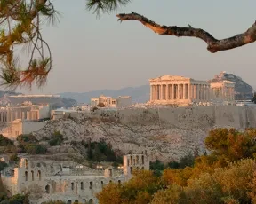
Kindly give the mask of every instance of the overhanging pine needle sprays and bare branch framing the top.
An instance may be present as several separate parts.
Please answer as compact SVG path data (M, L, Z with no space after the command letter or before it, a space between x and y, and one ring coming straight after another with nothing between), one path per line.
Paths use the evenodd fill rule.
M93 13L109 13L119 7L129 4L131 0L86 0L86 8ZM0 63L1 85L9 88L28 86L32 84L43 86L49 72L52 70L52 53L50 46L42 35L45 22L58 21L58 13L51 0L1 0L0 1ZM136 12L120 13L116 15L121 22L124 20L137 20L158 35L175 35L196 37L207 44L207 50L214 53L226 51L236 47L253 43L256 40L256 24L244 33L217 40L211 34L200 28L162 26L148 20ZM6 25L6 27L5 27ZM20 45L30 45L28 65L22 67L19 63L16 49Z

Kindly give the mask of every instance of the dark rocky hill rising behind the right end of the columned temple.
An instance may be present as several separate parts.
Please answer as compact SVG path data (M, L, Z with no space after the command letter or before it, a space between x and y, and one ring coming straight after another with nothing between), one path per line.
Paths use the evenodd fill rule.
M220 75L215 75L209 82L223 82L223 81L235 82L235 99L252 99L252 86L244 82L244 80L236 75L221 72Z

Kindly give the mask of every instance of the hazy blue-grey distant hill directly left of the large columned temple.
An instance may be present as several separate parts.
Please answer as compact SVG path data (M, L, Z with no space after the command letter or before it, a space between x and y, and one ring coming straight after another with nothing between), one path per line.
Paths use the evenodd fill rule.
M97 98L100 94L109 97L118 97L118 96L131 96L132 103L145 103L149 100L149 85L143 85L139 87L127 87L121 90L94 90L84 93L77 92L63 92L57 93L62 98L72 98L75 99L78 103L89 104L91 98Z

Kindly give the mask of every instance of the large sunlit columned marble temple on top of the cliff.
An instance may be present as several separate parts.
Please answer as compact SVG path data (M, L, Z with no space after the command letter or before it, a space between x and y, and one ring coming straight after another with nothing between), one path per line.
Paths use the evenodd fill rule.
M183 76L164 75L150 79L150 102L189 104L234 100L234 82L206 82Z

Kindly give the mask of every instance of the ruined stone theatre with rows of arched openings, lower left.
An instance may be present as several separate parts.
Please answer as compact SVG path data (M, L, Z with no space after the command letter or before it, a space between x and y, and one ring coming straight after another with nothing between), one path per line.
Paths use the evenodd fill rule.
M141 154L124 156L124 171L113 167L91 169L74 161L51 161L38 156L19 157L19 166L9 165L2 171L1 179L11 195L29 192L31 204L57 200L95 204L95 194L106 184L129 180L132 168L149 169L148 157Z

